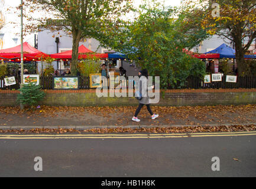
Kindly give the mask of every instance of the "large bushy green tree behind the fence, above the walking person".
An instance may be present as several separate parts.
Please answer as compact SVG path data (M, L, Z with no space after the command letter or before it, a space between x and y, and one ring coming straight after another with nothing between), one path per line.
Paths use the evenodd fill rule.
M208 37L205 30L195 27L195 17L187 20L187 13L181 12L177 19L176 8L163 9L160 4L141 6L139 16L118 35L123 43L115 44L116 49L127 54L150 76L161 76L161 87L184 86L189 76L202 77L205 65L183 53Z

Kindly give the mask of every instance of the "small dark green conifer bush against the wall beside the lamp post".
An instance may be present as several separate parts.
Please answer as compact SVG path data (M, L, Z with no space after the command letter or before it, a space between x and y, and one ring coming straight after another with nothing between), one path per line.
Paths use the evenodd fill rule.
M38 102L43 100L46 95L43 90L41 90L41 86L37 86L32 82L24 84L22 89L19 90L21 93L18 94L17 101L30 107L38 105Z

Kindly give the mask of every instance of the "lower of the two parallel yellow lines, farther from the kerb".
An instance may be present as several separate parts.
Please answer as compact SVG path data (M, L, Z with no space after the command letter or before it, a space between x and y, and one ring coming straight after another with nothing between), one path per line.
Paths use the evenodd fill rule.
M24 137L19 137L19 136L0 136L0 139L140 139L140 138L188 138L188 137L209 137L209 136L254 136L256 135L256 133L241 133L239 135L237 134L231 134L231 135L227 135L227 134L213 134L213 135L179 135L179 136L170 136L170 135L166 135L166 136L38 136L38 137L31 137L29 135L24 136Z

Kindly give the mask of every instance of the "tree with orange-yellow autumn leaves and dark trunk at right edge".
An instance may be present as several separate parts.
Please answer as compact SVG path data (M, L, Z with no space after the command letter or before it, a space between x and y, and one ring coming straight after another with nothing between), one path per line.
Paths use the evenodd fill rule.
M192 0L184 1L187 4L192 4ZM211 6L213 3L219 5L218 16L213 16L216 11ZM191 11L193 15L203 12L201 25L208 34L219 35L235 44L238 74L239 76L247 74L248 68L245 65L244 55L256 39L256 1L196 0L193 5L197 7Z

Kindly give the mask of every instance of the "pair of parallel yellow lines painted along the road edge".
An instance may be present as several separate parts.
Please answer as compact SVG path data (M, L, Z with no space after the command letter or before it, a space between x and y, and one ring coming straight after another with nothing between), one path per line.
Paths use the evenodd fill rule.
M0 139L134 139L134 138L188 138L209 136L253 136L256 131L250 132L218 132L218 133L158 133L158 134L59 134L59 135L0 135Z

